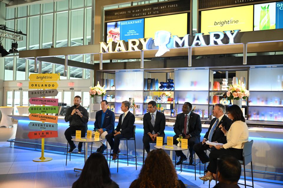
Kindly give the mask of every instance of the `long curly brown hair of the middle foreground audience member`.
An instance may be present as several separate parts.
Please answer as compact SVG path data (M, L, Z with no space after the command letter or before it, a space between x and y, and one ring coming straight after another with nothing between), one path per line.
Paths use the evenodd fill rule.
M172 160L164 150L157 149L149 152L138 179L129 188L177 188L178 185Z

